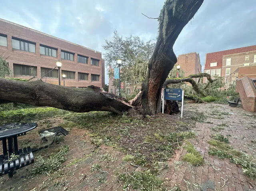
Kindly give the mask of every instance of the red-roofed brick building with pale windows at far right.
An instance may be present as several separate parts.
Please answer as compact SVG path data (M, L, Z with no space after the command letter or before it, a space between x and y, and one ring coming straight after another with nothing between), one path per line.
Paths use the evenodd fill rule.
M224 77L224 89L226 89L230 84L236 83L239 71L241 75L246 75L244 72L252 69L254 74L250 75L255 75L254 68L243 69L244 67L254 66L254 63L256 63L256 45L206 53L204 73ZM204 79L204 82L206 82L206 79Z

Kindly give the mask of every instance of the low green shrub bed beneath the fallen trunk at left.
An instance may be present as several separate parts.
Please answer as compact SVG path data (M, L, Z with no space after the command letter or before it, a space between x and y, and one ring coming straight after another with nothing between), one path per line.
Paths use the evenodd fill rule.
M35 121L45 117L56 116L57 114L62 115L66 111L52 107L38 107L38 108L26 108L17 110L7 110L0 112L0 123L11 123L11 122L28 122Z

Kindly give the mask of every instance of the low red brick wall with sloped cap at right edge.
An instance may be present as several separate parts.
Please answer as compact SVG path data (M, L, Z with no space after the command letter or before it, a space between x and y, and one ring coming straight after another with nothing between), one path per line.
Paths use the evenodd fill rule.
M252 80L248 77L238 80L236 82L236 92L239 93L243 109L256 112L256 88Z

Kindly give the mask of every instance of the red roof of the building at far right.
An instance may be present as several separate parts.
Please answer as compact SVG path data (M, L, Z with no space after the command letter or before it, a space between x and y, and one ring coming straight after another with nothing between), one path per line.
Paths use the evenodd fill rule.
M249 52L249 51L254 51L254 50L256 50L256 45L240 47L240 48L235 48L235 49L229 49L229 50L223 50L223 51L212 52L212 53L206 53L205 69L222 67L222 56L224 56L224 55ZM210 63L212 63L212 62L217 62L217 66L210 67Z

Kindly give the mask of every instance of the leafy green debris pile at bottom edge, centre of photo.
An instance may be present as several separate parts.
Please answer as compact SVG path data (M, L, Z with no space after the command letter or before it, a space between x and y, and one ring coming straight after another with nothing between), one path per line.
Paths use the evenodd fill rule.
M153 175L150 170L119 173L118 179L124 181L123 190L160 190L164 182L157 178L156 175Z

